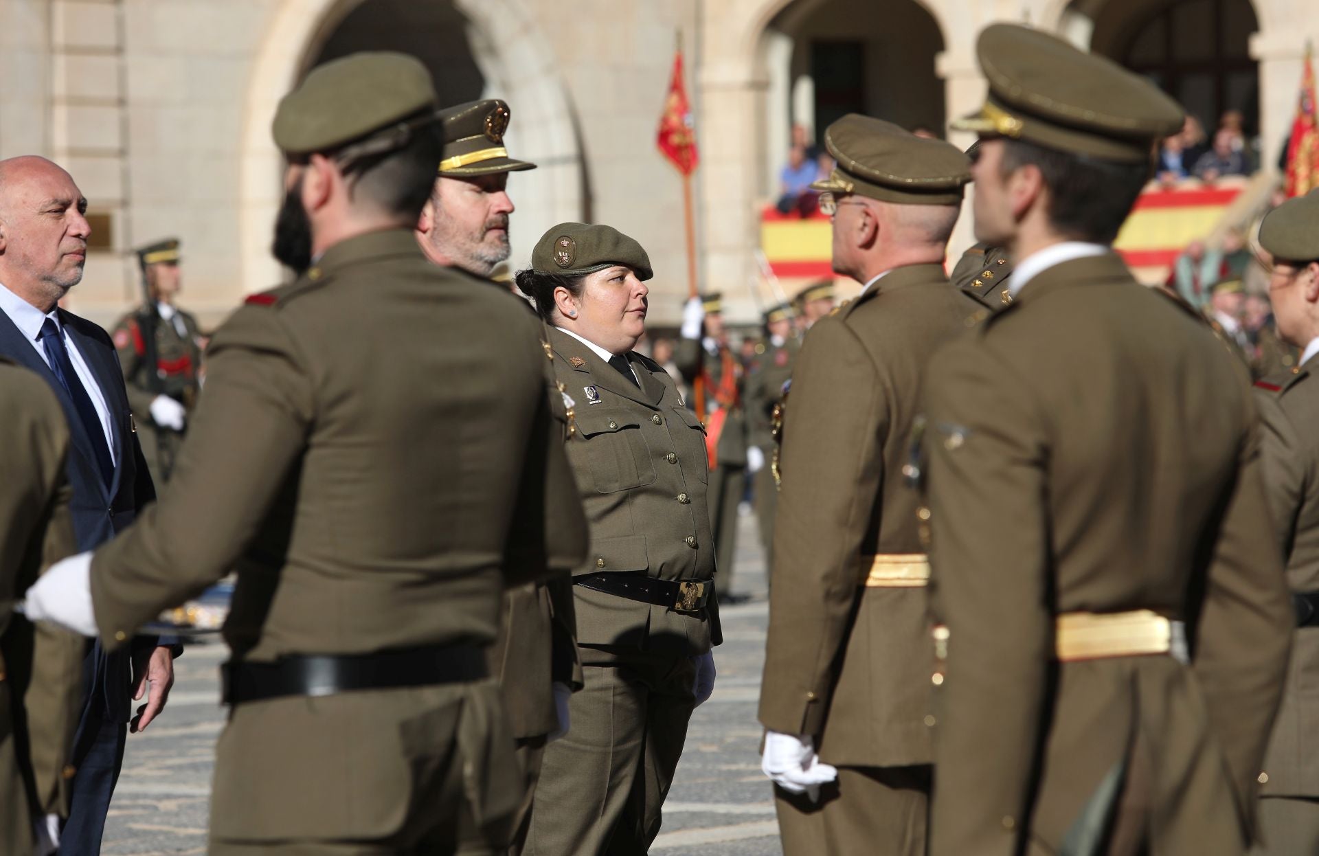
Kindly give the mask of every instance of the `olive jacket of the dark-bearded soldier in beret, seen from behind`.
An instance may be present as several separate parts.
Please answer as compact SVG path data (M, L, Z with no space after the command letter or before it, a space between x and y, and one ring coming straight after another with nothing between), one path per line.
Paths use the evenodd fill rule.
M344 240L248 298L207 360L169 492L92 559L107 645L230 568L235 659L489 645L505 586L582 563L538 322L429 262L412 231ZM216 749L212 835L392 835L448 729L468 795L516 790L489 761L512 750L497 700L394 723L396 696L413 698L237 706ZM274 810L290 793L307 794L303 810Z

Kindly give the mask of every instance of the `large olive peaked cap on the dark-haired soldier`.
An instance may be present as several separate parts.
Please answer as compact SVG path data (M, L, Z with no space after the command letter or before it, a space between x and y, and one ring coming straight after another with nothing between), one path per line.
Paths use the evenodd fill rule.
M1059 152L1142 164L1182 128L1182 108L1145 78L1029 26L992 24L976 44L989 95L952 127Z

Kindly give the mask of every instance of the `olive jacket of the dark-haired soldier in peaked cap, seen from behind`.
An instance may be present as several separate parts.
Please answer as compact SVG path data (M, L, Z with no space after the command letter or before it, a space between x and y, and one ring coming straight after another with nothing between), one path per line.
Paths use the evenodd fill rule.
M926 390L930 852L1058 852L1124 776L1151 852L1244 852L1293 620L1240 365L1107 253L1033 278ZM1055 659L1055 616L1136 609L1198 619L1190 665Z

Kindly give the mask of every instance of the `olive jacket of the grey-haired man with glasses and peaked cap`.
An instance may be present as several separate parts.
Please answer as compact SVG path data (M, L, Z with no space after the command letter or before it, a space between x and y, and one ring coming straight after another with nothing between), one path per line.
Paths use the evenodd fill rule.
M939 265L898 268L816 322L794 369L760 721L830 764L930 761L926 591L861 576L864 557L925 551L902 476L922 376L977 313Z

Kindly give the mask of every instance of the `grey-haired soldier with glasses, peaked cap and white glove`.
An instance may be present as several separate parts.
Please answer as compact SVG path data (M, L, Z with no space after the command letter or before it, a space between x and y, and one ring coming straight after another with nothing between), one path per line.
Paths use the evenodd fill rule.
M930 648L910 458L930 355L981 311L943 260L969 161L849 115L813 185L834 270L864 286L811 328L783 421L760 721L787 856L922 856Z

